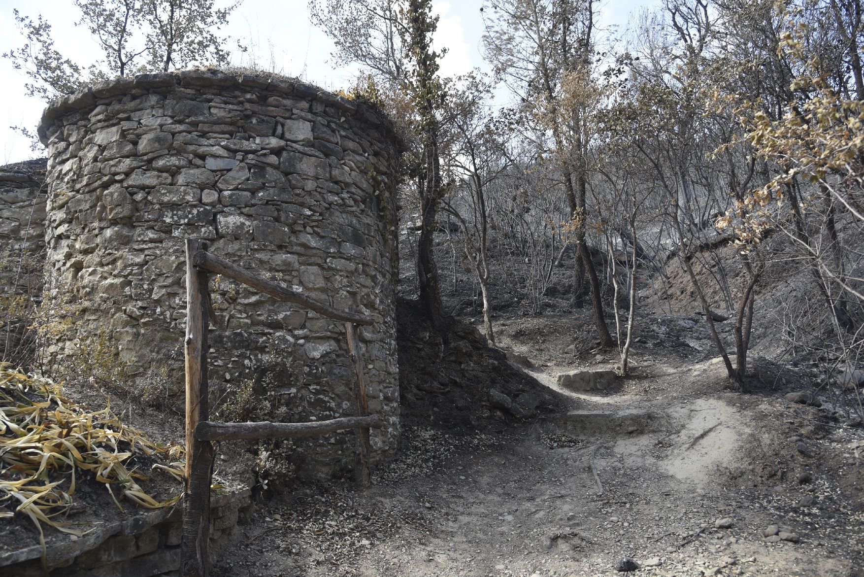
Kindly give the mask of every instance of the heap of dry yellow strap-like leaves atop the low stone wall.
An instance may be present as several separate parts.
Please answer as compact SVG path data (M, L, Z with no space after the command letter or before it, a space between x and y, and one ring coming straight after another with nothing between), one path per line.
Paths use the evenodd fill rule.
M122 500L148 509L167 507L138 485L150 472L182 480L183 447L163 446L111 413L89 411L60 395L60 386L0 363L0 519L22 514L73 535L73 523L58 520L72 505L76 486L95 480L123 510ZM151 464L149 471L134 463Z

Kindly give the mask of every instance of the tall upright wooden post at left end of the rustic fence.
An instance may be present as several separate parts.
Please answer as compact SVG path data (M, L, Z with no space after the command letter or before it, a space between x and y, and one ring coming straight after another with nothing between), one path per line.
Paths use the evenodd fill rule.
M205 577L210 539L210 479L213 443L197 441L195 428L209 419L207 402L207 327L210 302L207 272L195 268L195 256L206 250L200 240L186 241L186 495L183 499L181 575Z

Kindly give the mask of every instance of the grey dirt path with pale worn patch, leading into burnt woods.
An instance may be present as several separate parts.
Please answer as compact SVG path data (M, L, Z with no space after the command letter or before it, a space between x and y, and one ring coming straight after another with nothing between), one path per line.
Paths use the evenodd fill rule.
M371 491L331 488L257 510L220 569L612 575L627 556L638 574L858 575L864 523L838 500L837 479L799 459L788 474L804 466L816 473L812 485L762 481L758 467L790 453L791 424L778 424L789 410L784 402L681 392L714 366L659 364L603 396L565 391L574 399L569 415L507 434L406 431L408 451ZM532 372L562 390L554 378L562 368ZM638 393L645 388L665 392ZM828 455L848 441L832 434L807 440L811 450ZM798 507L807 496L815 504ZM767 542L771 524L799 541Z

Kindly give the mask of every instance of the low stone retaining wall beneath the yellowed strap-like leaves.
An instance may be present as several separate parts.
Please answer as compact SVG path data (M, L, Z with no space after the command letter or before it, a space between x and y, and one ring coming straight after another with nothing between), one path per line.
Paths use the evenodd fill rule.
M211 554L225 545L240 511L249 504L249 490L213 496ZM52 577L179 577L181 517L178 505L94 523L96 527L81 537L56 536L48 545L48 568ZM41 555L40 545L10 552L0 546L0 575L42 577Z

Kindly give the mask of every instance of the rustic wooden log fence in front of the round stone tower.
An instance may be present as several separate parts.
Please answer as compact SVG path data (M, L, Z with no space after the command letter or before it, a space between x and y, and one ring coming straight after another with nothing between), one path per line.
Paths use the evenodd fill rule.
M227 276L257 289L280 301L302 305L329 319L345 323L348 351L351 352L356 374L354 390L358 416L317 422L210 422L207 402L207 329L215 321L210 291L211 273ZM183 536L181 574L184 577L205 577L209 558L210 485L213 478L213 441L239 439L286 439L333 433L349 428L358 431L358 451L355 474L359 485L370 484L369 429L380 428L378 415L369 415L363 358L356 325L372 325L372 319L351 311L339 311L276 282L257 276L207 252L201 240L186 241L186 495L183 504Z

